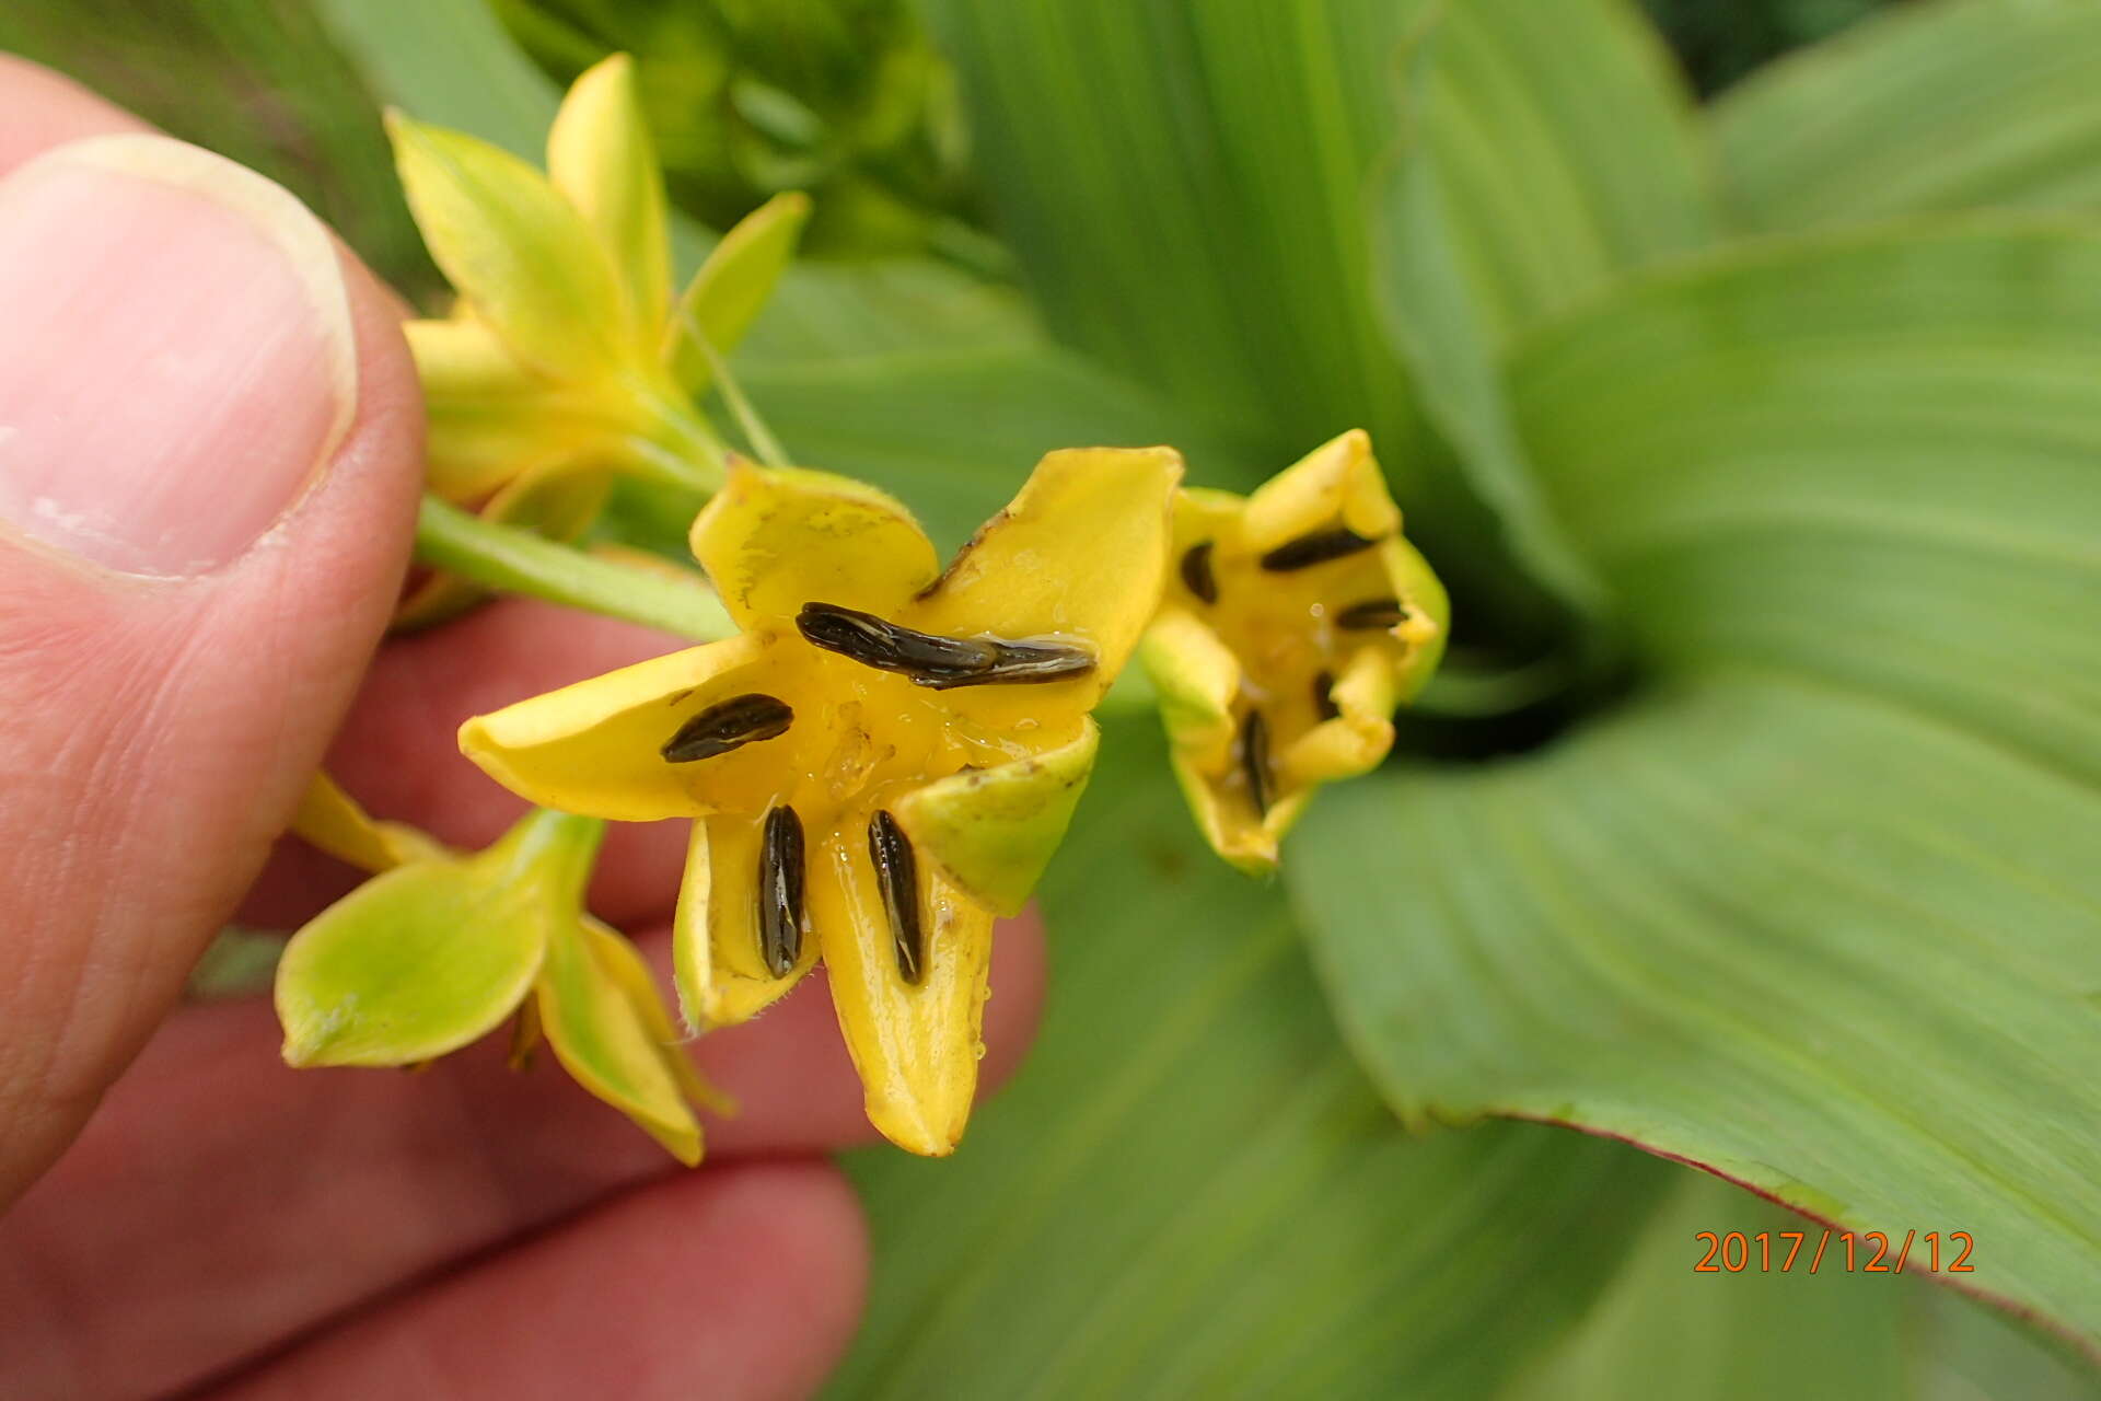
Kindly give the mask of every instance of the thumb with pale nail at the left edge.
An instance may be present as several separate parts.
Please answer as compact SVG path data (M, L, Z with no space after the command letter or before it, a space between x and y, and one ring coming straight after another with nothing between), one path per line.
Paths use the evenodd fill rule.
M418 477L387 296L284 189L147 134L0 181L0 1206L254 878Z

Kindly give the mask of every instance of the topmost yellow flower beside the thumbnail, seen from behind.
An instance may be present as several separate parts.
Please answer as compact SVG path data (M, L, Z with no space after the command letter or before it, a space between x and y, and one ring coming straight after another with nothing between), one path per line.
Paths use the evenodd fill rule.
M546 174L399 113L387 126L410 210L460 294L452 317L405 328L431 492L567 540L613 473L712 489L721 445L695 399L786 269L809 200L754 210L674 300L664 176L626 55L569 88ZM443 580L403 622L466 599Z

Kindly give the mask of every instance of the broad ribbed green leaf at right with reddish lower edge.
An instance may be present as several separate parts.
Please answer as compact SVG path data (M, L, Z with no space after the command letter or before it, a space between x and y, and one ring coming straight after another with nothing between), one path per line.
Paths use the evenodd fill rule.
M2101 1338L2101 237L1658 275L1511 368L1635 632L1546 750L1345 788L1286 870L1403 1111L1517 1113Z

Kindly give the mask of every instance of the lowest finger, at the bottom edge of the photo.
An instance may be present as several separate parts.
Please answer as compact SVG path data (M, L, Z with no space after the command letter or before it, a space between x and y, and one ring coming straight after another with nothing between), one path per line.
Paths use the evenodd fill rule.
M216 1395L807 1397L853 1338L866 1277L836 1168L706 1170L349 1319Z

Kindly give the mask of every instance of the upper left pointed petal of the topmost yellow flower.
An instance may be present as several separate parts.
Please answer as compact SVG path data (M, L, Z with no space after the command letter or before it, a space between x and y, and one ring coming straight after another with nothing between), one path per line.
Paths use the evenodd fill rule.
M635 361L628 298L584 216L508 151L389 113L416 227L525 365L586 380Z

